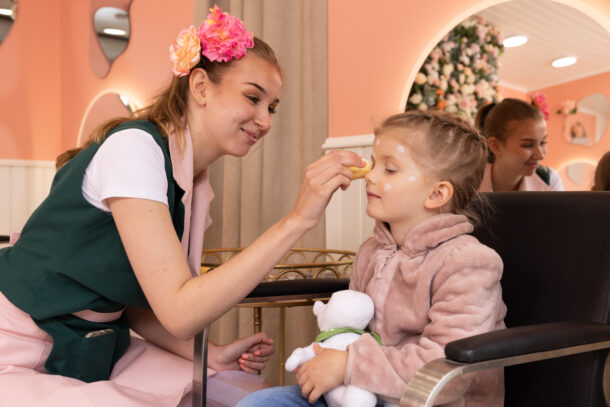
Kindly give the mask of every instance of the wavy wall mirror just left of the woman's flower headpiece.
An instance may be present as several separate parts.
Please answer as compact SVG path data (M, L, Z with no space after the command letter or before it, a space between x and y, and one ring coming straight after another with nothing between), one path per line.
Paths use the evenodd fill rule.
M94 32L105 56L106 63L100 63L91 58L95 73L103 77L110 70L112 62L121 55L129 43L129 3L125 8L101 7L93 16Z

